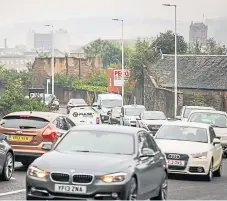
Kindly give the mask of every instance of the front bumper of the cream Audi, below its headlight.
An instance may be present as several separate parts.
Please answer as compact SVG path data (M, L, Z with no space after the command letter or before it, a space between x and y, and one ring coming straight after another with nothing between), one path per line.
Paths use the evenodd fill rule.
M189 158L186 167L169 166L168 173L188 174L188 175L207 175L210 169L209 159Z

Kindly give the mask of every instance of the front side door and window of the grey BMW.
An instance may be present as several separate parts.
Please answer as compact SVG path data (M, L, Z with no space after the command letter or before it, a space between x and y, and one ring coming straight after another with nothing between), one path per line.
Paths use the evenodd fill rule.
M153 149L153 146L149 142L149 139L145 131L138 133L138 150L139 154L142 154L144 148ZM155 153L155 150L153 149ZM140 192L141 194L148 194L153 192L157 188L156 178L158 169L157 161L154 157L140 157L137 165L139 177L140 177Z

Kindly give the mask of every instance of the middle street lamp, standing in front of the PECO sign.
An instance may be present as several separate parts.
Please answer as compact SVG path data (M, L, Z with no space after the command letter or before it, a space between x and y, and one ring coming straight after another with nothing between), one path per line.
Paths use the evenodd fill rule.
M121 93L122 93L122 106L124 105L124 84L125 84L125 78L124 78L124 20L121 19L112 19L113 21L121 22Z

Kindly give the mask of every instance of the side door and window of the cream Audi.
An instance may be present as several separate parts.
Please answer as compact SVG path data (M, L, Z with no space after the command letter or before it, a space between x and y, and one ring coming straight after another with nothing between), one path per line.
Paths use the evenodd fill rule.
M216 168L219 166L220 160L222 159L222 154L221 154L222 146L221 144L213 145L213 140L214 138L217 138L217 136L212 127L209 127L209 134L210 134L211 149L214 157L214 168Z

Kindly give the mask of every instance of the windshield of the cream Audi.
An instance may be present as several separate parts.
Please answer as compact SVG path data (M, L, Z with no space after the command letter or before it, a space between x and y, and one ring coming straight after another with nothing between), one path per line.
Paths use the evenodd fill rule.
M156 134L156 139L179 140L207 143L207 131L205 128L186 127L177 125L164 125Z

